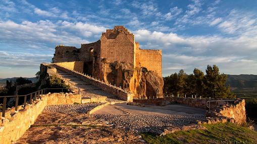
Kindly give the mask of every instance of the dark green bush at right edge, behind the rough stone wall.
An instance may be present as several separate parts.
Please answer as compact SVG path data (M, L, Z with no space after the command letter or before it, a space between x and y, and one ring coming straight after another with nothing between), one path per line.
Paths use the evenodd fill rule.
M248 117L257 118L257 98L246 102L245 109Z

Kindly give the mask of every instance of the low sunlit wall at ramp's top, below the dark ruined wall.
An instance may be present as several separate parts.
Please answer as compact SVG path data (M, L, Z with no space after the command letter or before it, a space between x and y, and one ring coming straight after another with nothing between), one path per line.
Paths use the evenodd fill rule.
M83 61L75 61L75 62L62 62L62 63L56 63L62 67L65 67L70 70L83 72Z

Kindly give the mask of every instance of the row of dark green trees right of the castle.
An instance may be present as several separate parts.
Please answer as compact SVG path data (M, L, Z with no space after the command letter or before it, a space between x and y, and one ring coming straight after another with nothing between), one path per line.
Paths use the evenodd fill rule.
M193 74L187 75L183 69L178 73L164 77L165 95L198 95L211 98L235 98L230 92L230 86L226 87L227 75L220 74L216 65L207 66L206 74L195 68Z

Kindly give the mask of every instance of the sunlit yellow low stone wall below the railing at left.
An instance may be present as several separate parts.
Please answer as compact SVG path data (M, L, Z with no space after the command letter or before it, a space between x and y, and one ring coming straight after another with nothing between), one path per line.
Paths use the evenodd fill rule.
M40 99L33 101L25 107L19 106L18 111L14 108L6 111L6 116L0 120L0 143L11 143L18 140L24 132L34 124L37 116L46 105L73 104L81 101L81 95L72 93L53 93L41 95ZM2 113L1 113L2 115Z

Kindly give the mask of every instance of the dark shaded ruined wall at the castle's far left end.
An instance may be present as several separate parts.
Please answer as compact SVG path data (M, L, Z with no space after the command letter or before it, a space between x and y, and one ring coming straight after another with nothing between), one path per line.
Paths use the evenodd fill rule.
M76 47L57 46L54 54L54 63L79 61L80 49Z

